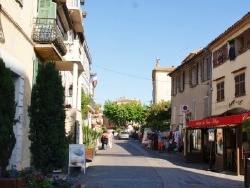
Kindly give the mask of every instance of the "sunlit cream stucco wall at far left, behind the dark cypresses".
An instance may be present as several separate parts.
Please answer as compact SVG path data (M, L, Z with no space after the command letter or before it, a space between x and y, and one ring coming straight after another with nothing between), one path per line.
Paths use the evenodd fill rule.
M17 134L19 135L18 143L14 150L19 149L20 153L13 151L10 161L11 164L16 163L17 167L21 168L30 165L30 141L28 139L29 118L27 109L30 104L33 59L35 57L33 44L31 42L31 31L33 15L36 10L36 1L29 3L24 1L23 7L20 7L16 1L1 0L0 3L3 8L0 13L0 20L5 39L5 42L0 43L0 49L4 50L4 52L16 60L15 62L9 62L9 60L4 59L7 66L11 66L11 70L14 70L14 72L15 67L18 67L19 70L21 68L22 71L18 77L24 79L23 87L16 88L16 92L23 93L20 124L18 127L14 127L16 137ZM7 15L5 13L7 13Z

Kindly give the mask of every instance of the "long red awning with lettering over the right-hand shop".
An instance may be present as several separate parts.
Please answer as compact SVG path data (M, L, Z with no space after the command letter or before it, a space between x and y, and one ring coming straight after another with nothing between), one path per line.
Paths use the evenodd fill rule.
M188 122L188 128L237 125L246 119L250 119L250 113L243 113L224 117L206 118L201 120L191 120Z

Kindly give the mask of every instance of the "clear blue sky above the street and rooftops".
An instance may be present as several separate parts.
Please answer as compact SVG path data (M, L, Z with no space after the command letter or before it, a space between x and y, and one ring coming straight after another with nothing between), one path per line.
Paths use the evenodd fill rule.
M249 0L85 0L95 102L152 100L152 70L178 66L250 11Z

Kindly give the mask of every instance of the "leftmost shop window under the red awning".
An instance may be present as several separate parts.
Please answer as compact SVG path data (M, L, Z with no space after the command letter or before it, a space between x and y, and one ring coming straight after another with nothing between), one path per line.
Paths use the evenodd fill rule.
M201 152L201 130L188 130L188 152Z

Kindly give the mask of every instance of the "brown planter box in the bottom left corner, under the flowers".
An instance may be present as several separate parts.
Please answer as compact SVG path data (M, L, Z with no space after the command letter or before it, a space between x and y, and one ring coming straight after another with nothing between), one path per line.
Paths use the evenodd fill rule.
M20 188L25 183L25 178L0 178L1 188Z

